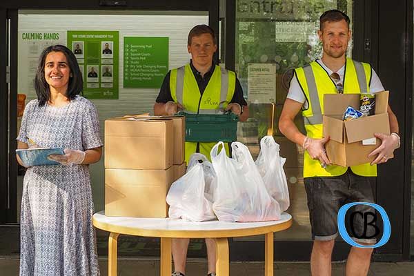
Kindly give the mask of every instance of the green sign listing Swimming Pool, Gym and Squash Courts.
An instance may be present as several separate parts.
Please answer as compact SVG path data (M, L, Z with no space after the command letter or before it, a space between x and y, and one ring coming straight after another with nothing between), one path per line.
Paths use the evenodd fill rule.
M168 72L168 37L124 37L124 88L160 88Z

